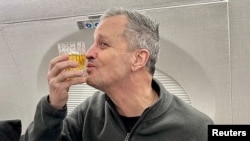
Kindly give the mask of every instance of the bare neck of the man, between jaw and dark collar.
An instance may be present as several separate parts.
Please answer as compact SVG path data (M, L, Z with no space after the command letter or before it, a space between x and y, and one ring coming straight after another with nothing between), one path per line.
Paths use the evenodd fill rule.
M141 116L145 109L158 99L157 93L151 86L151 80L131 81L116 88L113 87L108 95L122 116Z

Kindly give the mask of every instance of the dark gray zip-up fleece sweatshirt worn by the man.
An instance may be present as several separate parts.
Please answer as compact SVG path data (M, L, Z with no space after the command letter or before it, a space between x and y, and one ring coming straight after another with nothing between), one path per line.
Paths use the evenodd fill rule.
M34 121L22 139L25 141L207 141L208 124L204 113L168 93L156 80L152 87L159 100L147 108L127 133L114 105L103 92L97 92L67 116L43 97Z

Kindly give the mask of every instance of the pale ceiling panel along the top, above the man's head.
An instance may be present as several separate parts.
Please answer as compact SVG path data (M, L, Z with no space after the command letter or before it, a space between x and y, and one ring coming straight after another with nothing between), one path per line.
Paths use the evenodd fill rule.
M113 6L144 9L220 0L0 0L0 23L13 23L100 13Z

